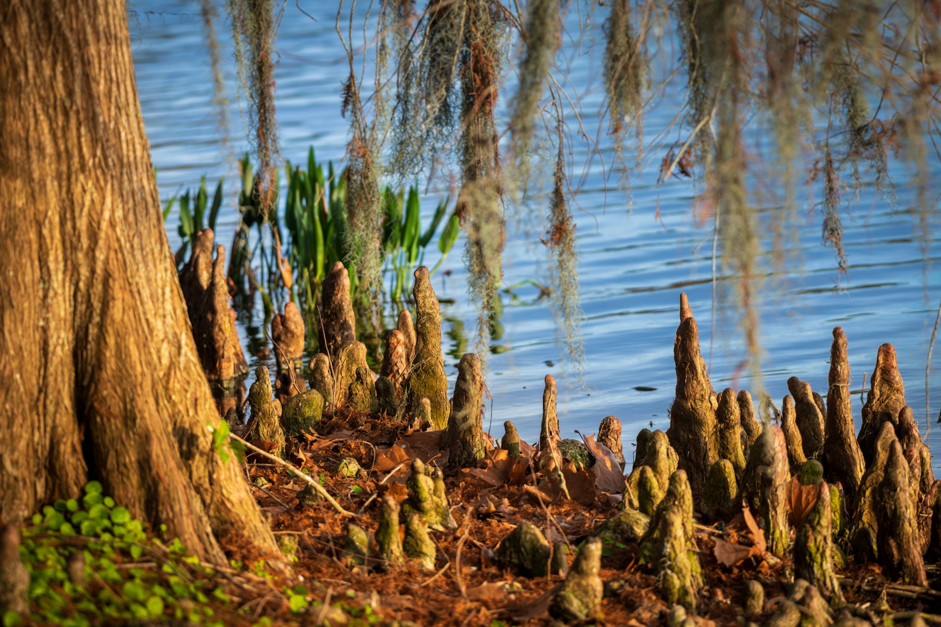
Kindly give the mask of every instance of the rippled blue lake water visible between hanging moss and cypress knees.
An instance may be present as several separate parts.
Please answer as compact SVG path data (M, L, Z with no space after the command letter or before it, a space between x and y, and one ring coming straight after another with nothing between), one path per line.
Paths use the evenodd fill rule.
M347 139L347 125L340 116L340 85L348 71L334 31L336 9L334 3L319 0L300 4L317 21L305 17L295 3L285 8L276 71L281 149L286 158L298 162L313 144L319 160L336 163L343 158ZM160 193L165 199L180 185L196 187L204 174L212 184L219 176L226 176L231 183L227 189L234 194L237 187L232 154L241 154L246 147L244 121L235 104L230 107L231 144L227 148L219 140L212 72L201 20L196 14L198 7L195 2L169 0L141 0L131 6L137 89ZM583 12L582 19L587 15ZM603 14L592 19L601 18ZM566 78L572 95L581 95L582 123L596 138L603 44L599 43L598 24L590 24L579 41L578 20L574 10L566 17L566 50L570 52L581 44L582 55L560 59L557 75ZM234 102L237 82L229 25L220 20L216 30L223 43L226 86ZM649 112L645 141L654 139L676 115L681 93L674 91L667 91L663 102ZM577 131L574 117L569 116L568 121ZM710 363L713 386L750 388L755 384L747 370L739 368L745 352L741 336L735 331L734 311L724 317L720 310L710 337L711 221L698 224L694 219L692 185L685 181L656 184L660 159L676 136L676 131L669 133L662 143L651 147L648 162L632 177L632 203L619 190L616 173L605 185L597 157L584 171L578 195L583 212L575 216L584 313L583 386L566 365L549 299L539 299L532 285L518 288L513 295L503 295L504 334L499 344L509 350L489 356L486 382L492 396L486 421L492 415L495 434L502 433L503 420L512 419L524 438L537 438L542 380L547 373L559 382L559 416L565 436L574 436L576 429L583 433L597 431L605 415L617 415L624 423L626 447L642 427L666 429L676 382L673 338L681 290L689 294L699 322L702 352ZM610 139L605 133L598 133L597 138L605 165L610 165ZM762 140L753 140L756 149ZM576 151L572 164L578 179L588 152L578 137L573 146ZM929 168L936 180L941 167L932 160ZM763 257L769 276L757 303L764 353L762 383L777 404L788 393L785 382L792 375L825 393L831 329L838 324L849 339L852 386L857 394L863 373L871 372L879 345L895 345L906 399L924 431L925 361L941 298L937 263L941 255L941 220L935 210L929 216L931 236L921 235L919 215L913 209L916 193L906 183L904 170L900 167L896 172L894 206L864 187L859 202L842 214L850 262L848 277L840 279L833 251L821 245L821 212L810 209L816 201L806 198L802 198L794 219L797 239L793 243L786 240L790 259L787 270L775 270L771 259ZM934 197L937 191L931 194ZM423 210L432 212L438 197L429 196ZM658 208L660 220L656 218ZM513 222L519 228L511 229L505 252L507 285L525 279L548 282L550 259L536 241L545 212L545 207L537 208L537 212L516 212L519 218ZM230 196L216 226L223 242L230 241L237 215L234 197ZM174 248L179 244L176 220L174 212L167 221ZM765 249L770 247L771 242L766 242ZM437 250L433 254L429 251L430 263L437 261L437 254ZM466 296L459 252L453 252L442 268L453 271L448 277L437 274L433 279L439 296L455 301L442 306L445 363L453 384L462 350L459 344L466 338L472 345L476 312ZM727 280L722 278L720 268L719 283ZM839 290L835 290L837 281ZM246 342L245 329L240 333ZM935 349L935 353L941 353L941 345ZM939 360L941 357L935 357L935 364ZM941 367L934 368L930 382L935 419L941 407L939 373ZM860 406L856 400L857 426ZM941 429L941 425L935 426L932 421L932 429ZM941 467L941 432L930 434L929 443L937 472ZM630 451L626 452L630 459Z

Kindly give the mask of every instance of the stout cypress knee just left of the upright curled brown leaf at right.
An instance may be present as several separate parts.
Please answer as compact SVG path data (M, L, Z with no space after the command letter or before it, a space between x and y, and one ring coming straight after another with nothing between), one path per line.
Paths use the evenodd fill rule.
M742 498L765 530L768 550L783 557L788 550L788 447L784 432L769 425L752 447L742 478Z

